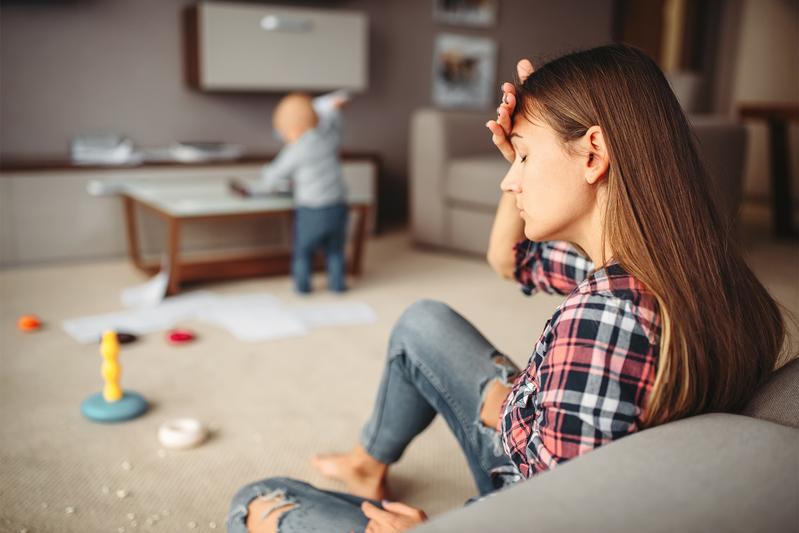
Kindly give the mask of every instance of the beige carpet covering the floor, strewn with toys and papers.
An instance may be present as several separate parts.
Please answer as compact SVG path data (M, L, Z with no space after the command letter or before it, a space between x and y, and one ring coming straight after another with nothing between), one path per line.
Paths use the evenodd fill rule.
M753 243L750 256L769 288L798 312L796 248L763 240ZM389 331L408 304L423 297L446 301L524 364L561 300L525 298L479 258L420 251L405 234L371 241L366 267L343 299L371 305L375 324L247 344L213 326L186 323L200 335L191 346L171 347L152 334L124 347L123 387L153 407L119 425L93 424L80 415L80 403L102 385L100 355L96 346L74 342L60 324L119 309L120 290L141 282L140 274L122 260L0 272L0 531L208 531L212 523L223 530L230 497L245 482L285 475L341 488L317 476L307 458L355 442ZM285 277L202 288L298 300ZM335 299L325 292L311 298ZM47 327L19 333L16 318L28 312L42 316ZM157 427L178 416L199 418L216 431L199 448L162 457ZM411 446L390 482L398 499L432 515L475 492L440 421ZM119 498L118 490L128 495Z

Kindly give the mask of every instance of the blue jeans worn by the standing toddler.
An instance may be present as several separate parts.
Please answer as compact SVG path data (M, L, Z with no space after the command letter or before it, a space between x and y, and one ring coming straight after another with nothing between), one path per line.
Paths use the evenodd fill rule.
M347 214L344 203L327 207L298 207L294 211L294 252L291 273L297 292L311 292L313 256L325 254L327 286L331 291L347 290L346 257Z

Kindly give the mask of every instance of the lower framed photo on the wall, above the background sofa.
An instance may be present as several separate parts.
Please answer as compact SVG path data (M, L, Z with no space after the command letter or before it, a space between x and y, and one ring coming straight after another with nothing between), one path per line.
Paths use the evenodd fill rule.
M463 109L493 105L496 57L491 39L440 34L433 51L433 103Z

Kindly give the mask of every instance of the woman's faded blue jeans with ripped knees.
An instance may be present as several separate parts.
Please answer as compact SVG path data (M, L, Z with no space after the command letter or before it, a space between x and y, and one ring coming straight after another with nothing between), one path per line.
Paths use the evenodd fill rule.
M518 367L466 319L432 300L412 304L391 333L383 377L361 445L381 463L397 462L411 441L444 417L466 455L481 495L494 490L489 472L507 466L499 432L480 421L483 395L494 381L510 386ZM277 492L274 492L277 491ZM279 495L295 507L281 516L280 533L361 532L364 498L324 491L287 478L268 478L236 494L228 531L246 532L247 507L259 496ZM379 502L373 502L379 505Z

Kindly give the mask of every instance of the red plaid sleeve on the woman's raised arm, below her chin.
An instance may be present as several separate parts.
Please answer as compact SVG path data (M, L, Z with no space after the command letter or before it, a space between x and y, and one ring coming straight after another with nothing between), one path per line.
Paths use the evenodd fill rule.
M513 276L528 296L538 291L569 294L594 269L594 264L566 241L523 240L514 247Z

